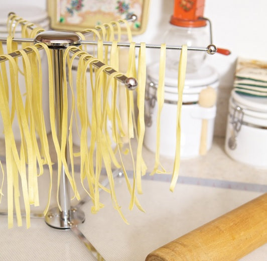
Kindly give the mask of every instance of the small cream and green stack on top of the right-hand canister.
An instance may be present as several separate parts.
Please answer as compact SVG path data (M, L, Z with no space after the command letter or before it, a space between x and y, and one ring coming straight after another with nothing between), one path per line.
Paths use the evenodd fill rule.
M234 90L246 95L267 97L267 62L238 59Z

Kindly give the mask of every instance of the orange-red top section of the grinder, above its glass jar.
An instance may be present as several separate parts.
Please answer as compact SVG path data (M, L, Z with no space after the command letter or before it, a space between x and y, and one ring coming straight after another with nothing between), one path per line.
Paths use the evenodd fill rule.
M204 13L205 0L175 0L174 13L170 23L182 27L203 27L206 20L201 19Z

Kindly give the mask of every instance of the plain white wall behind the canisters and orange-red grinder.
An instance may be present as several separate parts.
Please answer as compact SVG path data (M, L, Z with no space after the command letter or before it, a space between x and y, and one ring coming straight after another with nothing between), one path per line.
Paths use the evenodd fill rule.
M21 0L10 0L20 4ZM24 5L46 8L46 0L24 0ZM161 43L169 28L173 0L151 0L147 31L135 38L136 42ZM231 51L231 55L215 54L206 63L220 75L215 135L224 136L227 105L233 83L237 57L267 60L267 1L265 0L206 0L204 16L212 22L213 43ZM153 56L148 56L149 62Z

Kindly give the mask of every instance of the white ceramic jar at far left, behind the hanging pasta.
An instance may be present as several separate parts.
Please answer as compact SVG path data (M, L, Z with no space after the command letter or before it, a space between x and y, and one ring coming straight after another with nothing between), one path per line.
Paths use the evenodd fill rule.
M38 7L32 7L32 6L26 6L26 5L4 5L0 9L0 35L3 37L8 36L8 30L7 30L7 20L8 20L8 14L10 12L14 12L18 16L24 18L25 20L34 23L37 26L40 26L41 28L48 30L49 29L49 19L48 14L45 10L40 9ZM18 25L16 28L16 34L15 37L21 37L21 26ZM19 47L20 48L20 47ZM7 53L7 47L6 44L3 44L4 53ZM43 110L46 120L46 130L47 133L51 131L50 127L50 120L49 120L49 88L48 88L48 63L45 56L44 51L40 51L41 58L42 58L42 73L43 73ZM20 68L23 68L22 59L19 58L19 66ZM9 65L6 62L7 67L7 73L9 77ZM19 86L21 93L26 92L25 87L25 79L24 76L19 73ZM11 91L11 90L10 90ZM11 96L11 95L10 95ZM11 100L10 100L11 104ZM17 141L20 140L20 128L17 121L17 117L15 115L14 122L13 122L13 132L15 139ZM0 117L0 138L4 138L4 126L2 117Z

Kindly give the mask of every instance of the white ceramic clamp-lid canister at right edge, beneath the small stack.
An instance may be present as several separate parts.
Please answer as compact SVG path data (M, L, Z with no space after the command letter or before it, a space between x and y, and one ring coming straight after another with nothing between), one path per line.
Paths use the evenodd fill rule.
M232 90L225 151L238 162L267 168L267 98Z

